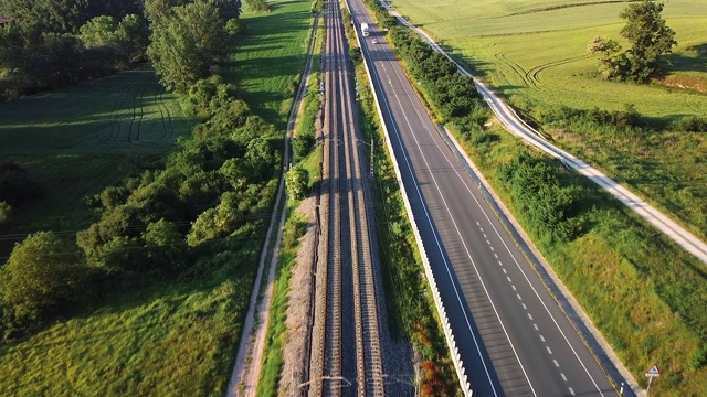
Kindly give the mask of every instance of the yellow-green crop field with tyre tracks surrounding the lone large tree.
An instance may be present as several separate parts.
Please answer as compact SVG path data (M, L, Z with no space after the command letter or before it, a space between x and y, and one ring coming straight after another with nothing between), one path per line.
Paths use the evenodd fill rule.
M401 14L431 32L520 107L563 104L623 110L633 104L642 115L666 120L685 114L706 116L705 93L610 83L595 76L597 57L587 54L587 44L595 35L621 39L624 22L619 13L627 3L393 1ZM672 0L663 15L677 33L678 46L669 55L674 73L707 85L707 1Z

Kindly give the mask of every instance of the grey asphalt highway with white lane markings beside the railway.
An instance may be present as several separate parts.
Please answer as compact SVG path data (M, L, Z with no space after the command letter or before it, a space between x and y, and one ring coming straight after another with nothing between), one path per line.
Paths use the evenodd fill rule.
M439 135L384 36L349 2L403 183L477 396L615 389ZM379 44L372 44L378 39Z

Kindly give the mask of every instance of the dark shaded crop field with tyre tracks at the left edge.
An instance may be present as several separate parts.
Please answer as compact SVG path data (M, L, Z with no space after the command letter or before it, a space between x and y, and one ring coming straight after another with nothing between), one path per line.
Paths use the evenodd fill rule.
M0 151L85 154L162 151L189 131L150 69L0 104Z

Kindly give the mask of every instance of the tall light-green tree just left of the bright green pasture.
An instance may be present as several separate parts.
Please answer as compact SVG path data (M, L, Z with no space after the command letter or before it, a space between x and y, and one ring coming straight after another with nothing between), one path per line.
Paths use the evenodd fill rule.
M176 7L172 12L171 18L152 23L147 55L167 89L186 93L221 61L226 33L211 2Z

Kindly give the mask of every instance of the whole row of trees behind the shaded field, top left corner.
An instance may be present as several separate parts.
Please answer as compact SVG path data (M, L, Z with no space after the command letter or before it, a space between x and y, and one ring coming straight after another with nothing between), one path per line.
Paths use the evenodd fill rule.
M133 67L146 56L163 85L184 93L213 75L240 0L0 0L0 99ZM149 44L149 47L148 47Z

